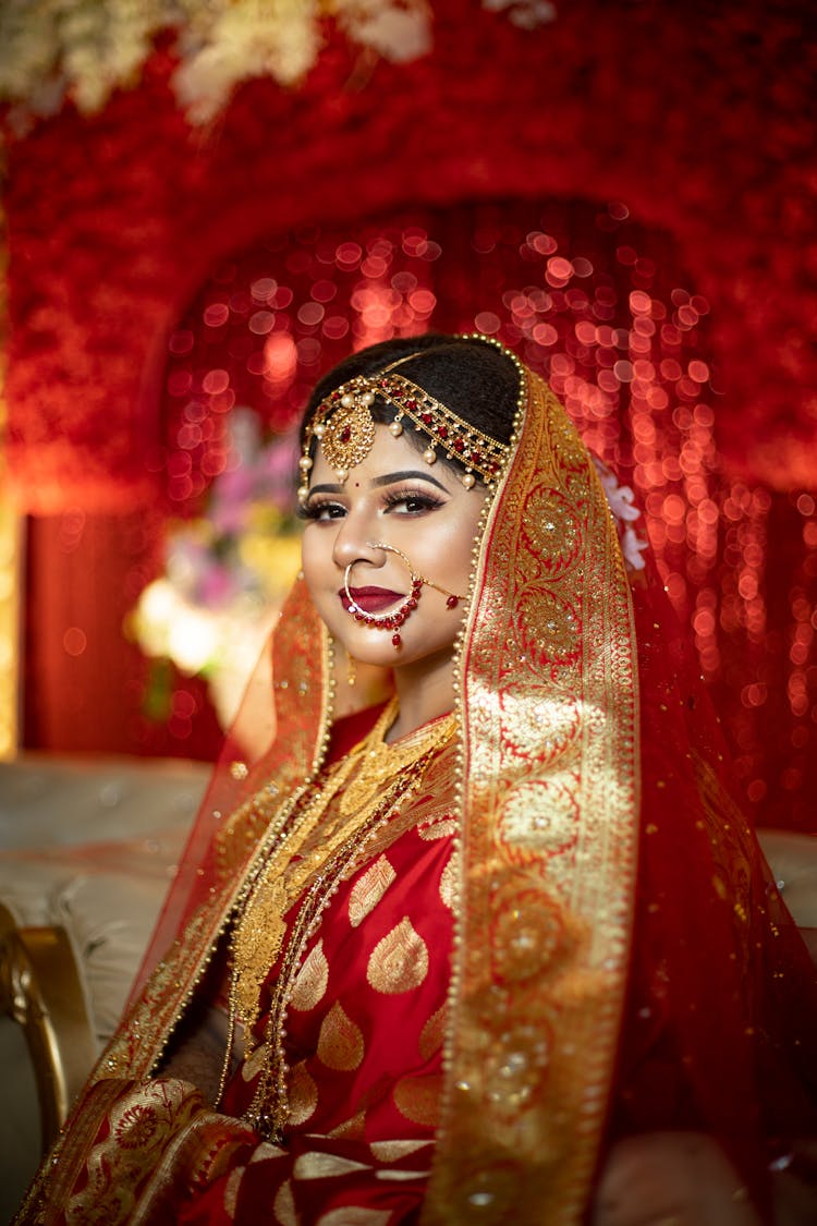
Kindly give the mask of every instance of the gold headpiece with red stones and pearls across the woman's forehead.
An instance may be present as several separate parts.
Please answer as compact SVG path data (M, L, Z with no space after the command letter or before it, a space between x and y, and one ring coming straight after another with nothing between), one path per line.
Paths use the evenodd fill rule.
M410 379L396 373L397 367L415 357L418 353L409 353L374 375L355 375L323 397L304 436L300 460L303 484L298 490L301 503L309 494L314 439L321 441L326 461L334 468L341 484L349 476L349 470L369 455L375 441L371 408L376 397L397 409L397 416L388 427L394 438L403 433L405 421L427 438L429 446L423 452L426 463L432 465L441 450L450 460L457 460L464 466L465 472L461 479L465 489L472 488L476 476L486 485L496 481L511 449L506 443L497 443L483 434Z

